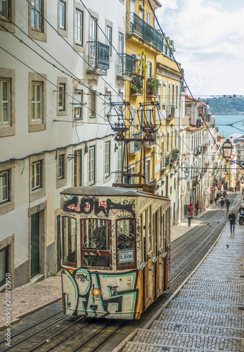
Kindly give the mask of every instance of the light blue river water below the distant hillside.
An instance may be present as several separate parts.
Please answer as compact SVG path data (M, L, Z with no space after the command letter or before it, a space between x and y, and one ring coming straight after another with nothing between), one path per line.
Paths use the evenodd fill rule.
M219 134L231 137L231 134L244 134L244 115L215 115L215 126L219 127ZM233 124L233 126L229 126ZM240 130L239 130L240 129Z

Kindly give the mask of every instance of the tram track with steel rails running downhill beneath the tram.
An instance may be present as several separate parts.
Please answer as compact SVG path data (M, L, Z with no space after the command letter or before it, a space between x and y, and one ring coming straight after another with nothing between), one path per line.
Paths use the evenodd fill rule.
M240 197L236 197L231 208L238 207L239 201ZM200 260L200 255L203 255L203 251L207 251L207 246L211 246L214 238L218 236L219 232L221 232L221 227L224 226L227 221L226 211L217 210L217 212L214 213L214 215L212 215L212 217L207 221L211 222L211 227L203 225L201 230L199 227L197 227L195 228L195 232L193 234L186 234L184 237L181 237L181 239L174 241L174 245L172 246L172 258L174 258L174 261L172 262L172 273L176 272L174 263L176 263L177 260L181 260L181 262L184 261L184 266L182 267L181 265L181 268L178 269L180 271L178 271L175 275L173 274L174 276L172 276L171 282L174 282L174 284L172 287L176 286L177 277L181 277L183 272L186 270L192 270L193 265L195 265L195 263L193 264L194 260ZM205 239L203 239L203 237L205 237ZM203 241L200 241L201 239ZM195 249L193 249L192 246L193 240L196 244ZM185 251L186 249L188 249L188 252L194 251L193 256L188 253L188 258L183 258L182 251L184 251L184 249L182 249L182 246ZM167 296L167 291L165 296ZM164 299L166 298L164 298L163 294L160 296L160 298L158 298L158 301L154 303L155 307L159 307ZM112 351L113 348L110 349L108 346L113 344L111 342L113 341L113 338L116 341L119 341L119 334L124 338L124 334L126 334L127 329L129 329L129 326L131 326L131 321L127 320L121 321L65 316L60 319L58 317L55 322L51 322L51 324L46 325L46 327L41 327L41 324L44 324L44 322L49 321L51 318L55 318L60 313L61 311L58 311L58 313L51 315L49 318L41 320L41 322L27 327L27 329L23 330L23 332L18 332L18 334L12 335L11 348L7 348L5 350L1 350L0 348L0 351ZM150 315L150 312L146 311L143 314L146 317ZM150 316L148 316L146 319L150 319ZM32 332L32 329L34 328L37 328L37 330ZM59 328L58 331L57 328ZM15 339L17 339L18 336L23 337L23 334L27 333L29 330L32 332L31 336L27 336L24 339L15 342ZM4 340L0 341L0 346L4 342Z

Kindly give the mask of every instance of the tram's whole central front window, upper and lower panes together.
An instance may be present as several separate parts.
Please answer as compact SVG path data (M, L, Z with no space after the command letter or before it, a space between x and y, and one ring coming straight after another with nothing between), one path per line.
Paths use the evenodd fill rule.
M81 220L82 266L110 268L110 220Z

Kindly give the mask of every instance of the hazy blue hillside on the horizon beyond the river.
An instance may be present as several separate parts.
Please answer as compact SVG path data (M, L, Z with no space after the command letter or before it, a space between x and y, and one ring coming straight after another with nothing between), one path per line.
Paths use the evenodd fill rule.
M200 98L200 100L203 101L203 103L209 103L211 113L244 113L243 96L237 96L236 98Z

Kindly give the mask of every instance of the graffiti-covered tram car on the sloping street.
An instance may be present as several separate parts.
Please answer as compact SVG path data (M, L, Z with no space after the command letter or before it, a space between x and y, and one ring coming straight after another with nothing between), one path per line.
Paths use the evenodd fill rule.
M123 187L61 192L63 311L139 319L169 288L170 201Z

